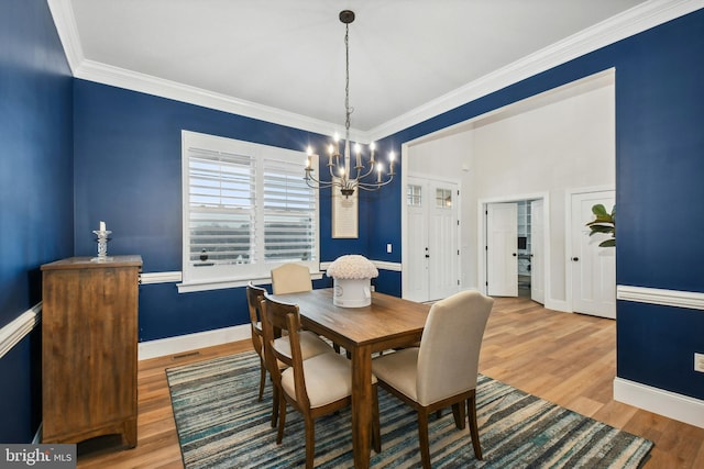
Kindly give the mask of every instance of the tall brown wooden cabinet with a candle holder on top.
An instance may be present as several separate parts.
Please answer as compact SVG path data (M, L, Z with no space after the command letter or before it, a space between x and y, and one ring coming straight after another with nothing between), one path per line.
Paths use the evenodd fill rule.
M43 443L136 446L140 256L42 266Z

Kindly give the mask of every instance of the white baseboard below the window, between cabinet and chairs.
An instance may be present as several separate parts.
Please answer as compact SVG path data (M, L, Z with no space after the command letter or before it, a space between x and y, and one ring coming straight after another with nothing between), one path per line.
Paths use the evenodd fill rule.
M224 327L215 331L199 332L195 334L179 335L176 337L160 338L156 340L141 342L138 346L139 359L163 357L180 354L196 348L212 347L251 338L250 324Z

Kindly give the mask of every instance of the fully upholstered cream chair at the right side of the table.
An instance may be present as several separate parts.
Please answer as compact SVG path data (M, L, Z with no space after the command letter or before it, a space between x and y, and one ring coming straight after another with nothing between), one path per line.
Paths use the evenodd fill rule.
M480 348L493 304L493 299L479 291L462 291L441 300L430 309L420 347L372 360L380 386L418 412L424 468L430 468L428 415L452 405L457 427L464 428L465 402L474 455L482 459L475 389Z

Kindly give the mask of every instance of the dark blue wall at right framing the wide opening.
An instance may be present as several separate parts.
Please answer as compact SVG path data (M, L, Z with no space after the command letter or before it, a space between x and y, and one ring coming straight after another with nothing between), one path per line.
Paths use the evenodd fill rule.
M704 10L698 10L384 142L398 152L421 135L615 67L617 282L704 292L702 57ZM396 200L381 200L375 210L386 213L395 206ZM704 399L704 373L693 370L694 353L704 353L703 311L619 301L617 319L620 378Z

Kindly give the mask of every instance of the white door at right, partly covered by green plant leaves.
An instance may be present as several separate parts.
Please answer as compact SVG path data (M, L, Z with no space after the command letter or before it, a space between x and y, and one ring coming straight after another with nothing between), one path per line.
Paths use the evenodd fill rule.
M572 311L602 317L616 317L616 249L600 247L606 235L590 236L585 225L594 219L592 206L614 206L614 191L572 194L571 257Z

